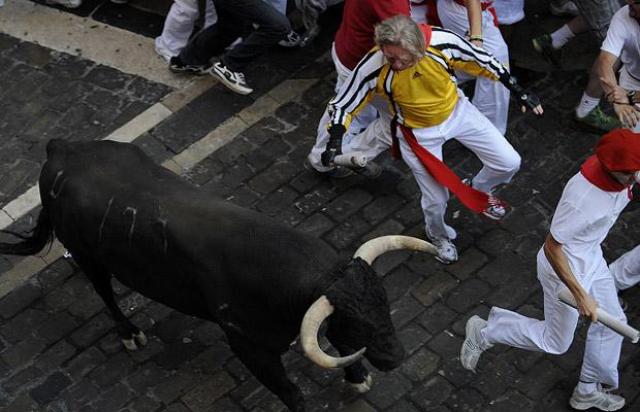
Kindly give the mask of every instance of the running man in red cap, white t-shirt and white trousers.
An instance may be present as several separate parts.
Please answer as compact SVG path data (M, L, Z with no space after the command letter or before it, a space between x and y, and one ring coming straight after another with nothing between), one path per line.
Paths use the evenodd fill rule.
M460 350L460 361L466 369L475 370L482 352L496 343L562 354L573 341L581 314L589 317L592 324L580 380L569 403L578 410L616 411L624 406L624 398L603 387L618 387L622 337L596 323L596 309L600 307L622 322L626 317L600 244L629 203L631 186L639 175L640 134L615 129L603 136L596 154L565 186L549 234L538 252L544 319L498 307L491 308L488 321L472 316ZM575 297L578 310L558 300L558 292L564 288Z

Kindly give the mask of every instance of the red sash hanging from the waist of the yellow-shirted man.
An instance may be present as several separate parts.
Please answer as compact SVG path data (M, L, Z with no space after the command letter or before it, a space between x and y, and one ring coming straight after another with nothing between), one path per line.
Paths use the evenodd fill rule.
M409 143L411 150L418 157L420 163L424 166L427 172L441 185L449 189L452 193L454 193L460 202L465 205L468 209L476 212L482 213L484 212L490 204L501 204L506 207L506 203L502 200L490 196L485 192L481 192L479 190L474 189L471 186L465 185L462 180L456 175L446 164L442 162L442 160L438 159L427 149L422 147L420 143L416 140L416 137L413 134L413 131L406 126L398 125L400 130L402 131L402 136ZM392 133L392 136L395 137L395 133ZM397 149L397 138L393 140L395 150L394 154L398 153Z

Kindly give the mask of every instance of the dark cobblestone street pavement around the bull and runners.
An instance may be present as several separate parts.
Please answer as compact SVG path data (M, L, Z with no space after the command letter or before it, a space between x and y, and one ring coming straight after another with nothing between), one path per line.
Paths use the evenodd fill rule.
M546 2L540 3L533 10L528 5L532 23L515 33L518 42L523 31L527 34L536 30L537 19L542 19L543 25L558 22L548 19ZM0 40L10 45L8 49L0 47L5 50L1 55L4 59L17 60L18 50L32 47L12 39ZM254 76L261 71L269 74L264 76L269 81L259 84L259 93L284 79L311 79L311 86L301 97L281 105L273 115L263 117L185 172L184 177L202 190L312 233L345 256L377 235L423 236L418 189L401 162L383 156L380 161L384 171L375 180L354 176L332 181L302 167L317 120L333 90L332 64L326 54L318 57L327 50L329 41L330 36L325 34L309 50L293 54L275 51L254 67ZM531 58L523 49L512 54L520 65ZM69 61L56 55L51 59ZM304 63L310 59L319 60ZM12 63L11 67L20 64ZM42 66L47 64L49 61ZM33 71L33 63L25 65ZM0 65L0 70L4 67ZM100 71L82 61L75 61L71 67L82 68L83 79ZM540 119L511 113L509 140L524 159L513 183L500 191L512 205L511 212L496 224L471 215L453 200L449 220L459 232L459 262L444 266L430 256L404 252L376 262L392 302L392 319L409 356L391 373L374 372L372 390L359 395L342 382L340 371L319 369L294 347L285 356L286 368L302 388L310 411L569 410L568 398L577 380L584 346L584 325L571 349L562 356L495 347L483 355L477 374L463 370L458 359L464 324L470 315L484 316L492 305L499 305L541 316L535 254L564 183L598 139L596 134L578 130L571 120L573 105L586 81L584 70L545 74L516 67L514 71L539 92L546 113ZM40 71L37 73L42 77ZM28 73L24 78L25 84L30 84ZM123 80L115 92L109 92L116 102L112 104L124 108L148 102L146 92L137 95L131 91L135 81ZM101 90L99 84L91 84L92 90ZM4 86L0 89L3 92ZM82 101L88 99L90 95ZM29 107L28 99L22 103ZM251 103L249 98L214 87L136 144L156 160L164 160ZM90 103L86 106L96 107ZM68 109L78 110L74 107ZM33 116L43 118L37 113L25 115L29 126L36 124L30 120ZM92 116L105 114L92 112ZM2 119L7 121L5 116ZM49 122L42 123L41 127L49 127ZM34 134L38 135L25 133ZM36 143L46 140L42 136L38 139ZM20 146L22 140L8 140L14 142L15 149L4 146L9 143L3 141L3 149L9 147L6 156L28 153ZM5 156L5 150L2 153ZM445 147L445 159L461 175L479 168L477 159L455 143ZM40 160L33 162L37 165ZM11 173L3 170L2 176L11 175L12 180L14 173L13 169ZM15 176L18 179L19 175ZM632 203L604 245L607 257L615 258L635 246L633 233L637 233L639 217L640 210ZM22 227L28 225L22 223ZM284 410L233 356L216 325L176 313L121 285L116 285L116 291L122 309L149 337L149 344L140 351L123 349L104 305L70 260L56 261L0 299L0 410ZM632 289L625 298L630 303L630 323L640 324L638 292ZM640 353L632 344L623 346L620 375L627 410L640 409Z

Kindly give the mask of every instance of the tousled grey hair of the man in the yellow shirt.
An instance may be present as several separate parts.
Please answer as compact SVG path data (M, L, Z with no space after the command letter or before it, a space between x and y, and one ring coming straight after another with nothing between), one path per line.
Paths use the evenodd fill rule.
M420 27L411 18L399 14L378 23L374 40L380 47L384 45L400 46L416 59L424 57L425 41Z

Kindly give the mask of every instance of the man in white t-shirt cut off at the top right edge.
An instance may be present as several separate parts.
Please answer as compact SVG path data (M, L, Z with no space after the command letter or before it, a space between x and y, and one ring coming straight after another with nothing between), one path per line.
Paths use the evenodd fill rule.
M616 80L619 63L620 79ZM633 92L640 90L640 3L627 0L611 19L607 37L595 63L607 99L623 126L634 128L640 120L640 107ZM640 127L635 131L640 131Z

